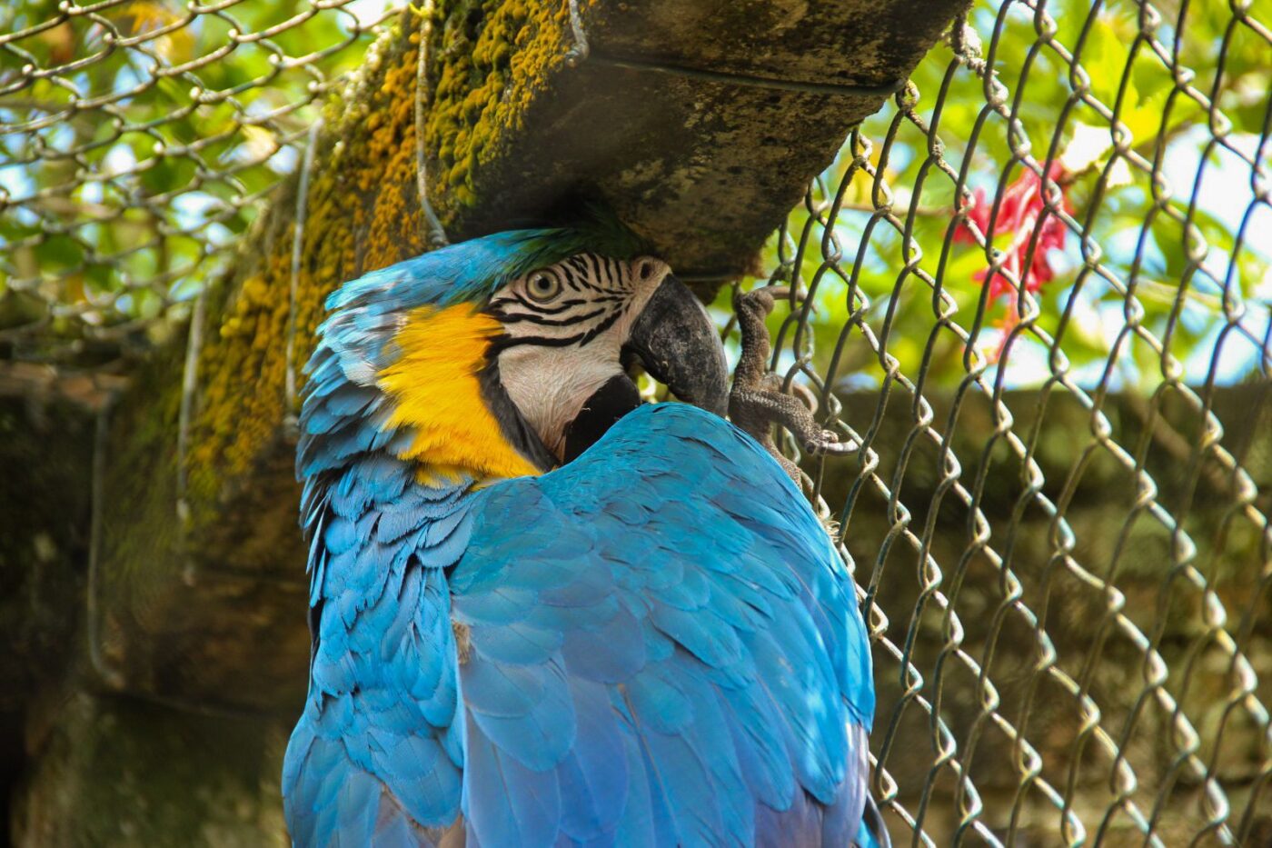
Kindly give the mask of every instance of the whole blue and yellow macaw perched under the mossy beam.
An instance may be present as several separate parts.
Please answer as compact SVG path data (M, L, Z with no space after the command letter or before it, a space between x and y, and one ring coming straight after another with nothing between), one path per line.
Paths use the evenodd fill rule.
M298 845L887 840L851 577L721 418L706 312L603 229L487 236L327 302ZM642 405L633 359L689 402Z

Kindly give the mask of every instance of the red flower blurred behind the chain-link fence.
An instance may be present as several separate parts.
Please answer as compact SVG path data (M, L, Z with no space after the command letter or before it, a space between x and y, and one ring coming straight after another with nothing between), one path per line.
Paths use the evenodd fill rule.
M1074 208L1065 194L1065 185L1060 182L1061 177L1065 176L1065 168L1054 162L1047 176L1060 186L1061 204L1065 211L1072 213ZM1037 292L1056 276L1054 269L1047 260L1047 253L1052 248L1065 247L1065 223L1054 214L1048 214L1039 224L1038 219L1043 209L1046 209L1046 204L1043 202L1042 178L1029 168L1025 168L1004 192L992 234L988 233L990 204L986 202L985 191L977 188L971 205L965 208L968 219L976 223L986 238L1011 233L1011 244L1002 255L1002 271L1009 271L1015 279L1021 280L1027 292ZM1029 264L1028 269L1024 269L1025 255L1029 252L1029 243L1033 241L1035 230L1038 232L1038 243L1034 247L1033 262ZM954 241L976 243L972 230L963 224L959 224L954 232ZM983 285L988 272L990 269L982 269L973 279ZM990 283L990 297L996 298L1000 294L1015 294L1015 286L1007 281L1001 271L995 274Z

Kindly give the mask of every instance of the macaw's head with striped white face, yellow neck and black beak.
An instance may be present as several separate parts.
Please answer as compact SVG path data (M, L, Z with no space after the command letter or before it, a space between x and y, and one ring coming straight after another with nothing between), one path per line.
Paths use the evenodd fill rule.
M346 283L327 308L301 413L305 476L341 418L426 474L547 471L640 404L637 359L681 400L726 407L706 311L618 227L462 242ZM333 405L337 390L361 400Z

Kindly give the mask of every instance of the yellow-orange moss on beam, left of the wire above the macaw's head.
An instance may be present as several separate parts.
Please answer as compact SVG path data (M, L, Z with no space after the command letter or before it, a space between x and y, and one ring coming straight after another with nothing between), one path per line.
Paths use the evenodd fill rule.
M412 46L411 36L404 46ZM293 289L294 215L277 206L256 233L263 256L225 304L219 332L200 354L198 414L187 458L191 493L211 503L221 481L245 474L279 438L287 368L296 386L322 320L322 302L345 280L424 250L415 195L416 52L389 48L346 95L319 143L305 202L301 260ZM293 202L294 209L294 202ZM295 309L293 358L287 335Z

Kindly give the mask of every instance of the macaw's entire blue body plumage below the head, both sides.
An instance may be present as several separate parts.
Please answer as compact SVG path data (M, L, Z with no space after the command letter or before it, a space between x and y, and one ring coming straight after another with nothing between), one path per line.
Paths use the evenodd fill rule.
M324 395L333 416L364 400ZM284 777L298 844L434 844L457 816L488 848L856 834L855 590L728 423L649 406L541 477L430 489L377 458L328 485L307 499L326 606Z

